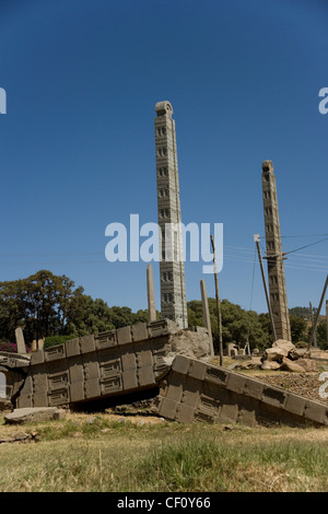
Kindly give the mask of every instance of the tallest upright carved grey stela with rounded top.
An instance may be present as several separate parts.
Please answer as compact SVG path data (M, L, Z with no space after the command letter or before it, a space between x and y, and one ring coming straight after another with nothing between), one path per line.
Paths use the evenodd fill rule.
M162 233L160 261L161 313L173 319L180 328L188 327L185 265L181 237L181 212L176 151L175 121L169 102L159 102L155 106L155 151L157 175L159 225ZM175 229L173 246L165 255L167 227ZM166 227L166 230L165 230ZM166 232L166 237L165 237ZM167 248L166 248L167 249Z

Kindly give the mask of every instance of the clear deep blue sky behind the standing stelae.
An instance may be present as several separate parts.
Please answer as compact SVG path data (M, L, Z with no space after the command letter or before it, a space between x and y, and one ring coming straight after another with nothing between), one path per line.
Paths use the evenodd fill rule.
M327 23L324 0L0 1L0 280L49 269L147 308L147 264L107 262L105 229L157 220L153 119L168 100L183 222L223 223L220 296L266 312L258 261L251 296L262 161L283 250L328 237ZM289 306L318 305L327 270L327 240L291 254ZM202 278L214 296L187 261L187 300Z

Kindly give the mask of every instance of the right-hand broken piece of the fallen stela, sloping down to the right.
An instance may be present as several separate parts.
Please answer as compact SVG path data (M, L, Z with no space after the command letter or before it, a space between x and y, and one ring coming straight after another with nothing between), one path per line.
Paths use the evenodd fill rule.
M328 425L328 407L223 367L177 355L160 383L159 414L189 423ZM197 372L196 372L197 371Z

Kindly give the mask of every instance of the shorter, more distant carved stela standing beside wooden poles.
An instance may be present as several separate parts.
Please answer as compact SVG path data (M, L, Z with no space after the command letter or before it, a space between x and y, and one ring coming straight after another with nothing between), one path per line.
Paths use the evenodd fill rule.
M271 161L262 162L262 194L268 259L270 303L278 339L291 341L290 316L286 299L277 185Z

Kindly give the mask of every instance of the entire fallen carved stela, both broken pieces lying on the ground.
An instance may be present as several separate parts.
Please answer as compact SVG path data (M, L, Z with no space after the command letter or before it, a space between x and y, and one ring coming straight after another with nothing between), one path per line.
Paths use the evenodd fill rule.
M119 405L122 397L148 392L159 416L177 422L328 424L326 405L212 365L209 359L204 328L179 329L167 319L138 324L28 357L1 352L8 384L1 401L16 409L74 408L97 400Z

